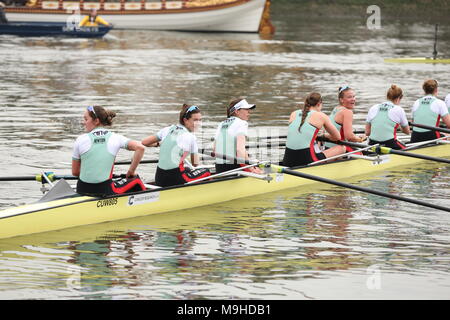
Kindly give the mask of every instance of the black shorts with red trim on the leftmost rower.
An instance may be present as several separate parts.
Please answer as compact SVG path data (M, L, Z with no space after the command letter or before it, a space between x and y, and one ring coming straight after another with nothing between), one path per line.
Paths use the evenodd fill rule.
M106 197L142 190L145 190L145 186L139 177L109 179L100 183L87 183L78 179L77 182L77 193L88 196Z

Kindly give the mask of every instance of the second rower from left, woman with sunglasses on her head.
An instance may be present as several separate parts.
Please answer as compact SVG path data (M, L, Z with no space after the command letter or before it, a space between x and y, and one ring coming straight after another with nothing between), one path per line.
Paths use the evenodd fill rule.
M185 166L190 155L191 164L199 165L197 138L194 132L201 125L202 115L197 106L183 104L179 123L161 129L156 135L142 140L144 146L161 146L155 183L160 187L181 185L211 175L208 169Z

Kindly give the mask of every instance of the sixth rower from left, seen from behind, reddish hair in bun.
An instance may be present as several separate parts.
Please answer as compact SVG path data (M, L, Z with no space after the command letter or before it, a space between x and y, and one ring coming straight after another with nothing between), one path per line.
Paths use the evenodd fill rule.
M387 102L376 104L369 109L366 120L366 135L369 145L380 144L392 149L405 149L397 140L397 129L404 134L411 134L405 110L400 107L403 91L395 84L387 91Z

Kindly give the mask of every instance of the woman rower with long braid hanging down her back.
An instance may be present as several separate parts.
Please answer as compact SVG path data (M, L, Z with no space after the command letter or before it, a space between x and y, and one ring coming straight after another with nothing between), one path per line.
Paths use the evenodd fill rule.
M303 109L291 113L283 165L286 167L304 166L309 163L345 153L345 147L335 145L320 151L316 143L319 130L325 128L326 137L332 141L341 139L341 134L330 118L322 111L320 93L309 94Z

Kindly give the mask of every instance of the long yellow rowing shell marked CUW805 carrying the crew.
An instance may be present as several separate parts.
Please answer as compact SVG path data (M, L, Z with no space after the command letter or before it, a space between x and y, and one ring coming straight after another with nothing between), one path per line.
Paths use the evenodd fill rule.
M438 144L409 152L449 157L450 145ZM301 167L296 171L328 179L346 179L423 161L393 154L378 160L353 158ZM315 183L283 173L267 173L265 179L241 174L107 198L71 195L47 201L44 196L43 201L0 211L0 238L200 207Z

